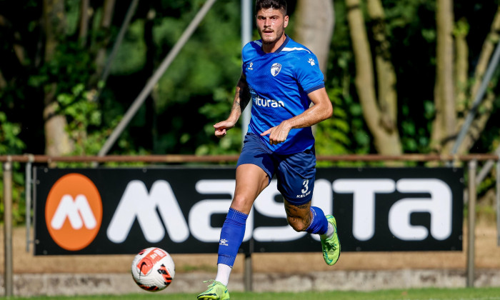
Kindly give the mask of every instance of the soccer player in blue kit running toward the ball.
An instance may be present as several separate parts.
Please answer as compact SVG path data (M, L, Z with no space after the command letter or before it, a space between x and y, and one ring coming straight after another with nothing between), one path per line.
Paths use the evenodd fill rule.
M226 286L246 218L273 176L290 226L320 235L326 264L335 264L340 256L334 216L311 206L316 175L311 126L329 119L333 111L323 74L316 56L285 34L289 24L285 0L256 0L255 11L261 39L244 46L231 112L228 119L214 125L215 136L224 137L252 101L248 132L236 164L234 199L221 229L216 279L198 299L229 299Z

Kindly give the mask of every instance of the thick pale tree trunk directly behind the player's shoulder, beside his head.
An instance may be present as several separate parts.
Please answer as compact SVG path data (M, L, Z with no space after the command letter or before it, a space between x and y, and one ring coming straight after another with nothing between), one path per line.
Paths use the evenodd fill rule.
M319 68L326 74L335 15L332 0L297 1L294 39L316 54Z

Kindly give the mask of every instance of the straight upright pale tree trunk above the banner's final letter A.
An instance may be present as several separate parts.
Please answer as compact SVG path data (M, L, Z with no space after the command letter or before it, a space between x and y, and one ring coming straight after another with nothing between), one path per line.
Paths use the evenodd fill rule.
M437 68L434 87L436 119L431 146L439 153L451 151L456 134L453 24L452 0L437 0Z

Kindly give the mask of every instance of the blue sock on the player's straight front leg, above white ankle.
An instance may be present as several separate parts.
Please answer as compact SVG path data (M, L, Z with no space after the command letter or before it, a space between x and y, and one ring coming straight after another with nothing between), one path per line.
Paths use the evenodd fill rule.
M229 209L226 221L222 225L217 264L226 264L231 267L234 265L236 254L238 254L239 246L241 246L245 235L246 218L248 217L248 214L241 211Z

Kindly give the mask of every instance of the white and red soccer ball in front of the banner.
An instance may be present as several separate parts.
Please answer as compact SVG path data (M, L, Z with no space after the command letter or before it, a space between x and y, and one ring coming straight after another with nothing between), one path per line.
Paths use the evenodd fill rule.
M170 254L156 247L141 250L132 261L132 278L146 291L165 289L175 276L175 264Z

